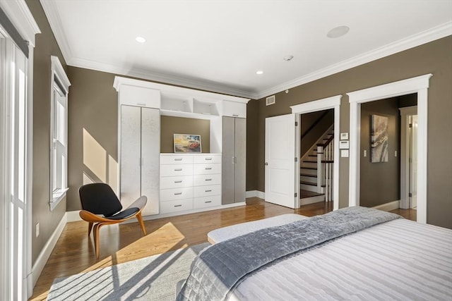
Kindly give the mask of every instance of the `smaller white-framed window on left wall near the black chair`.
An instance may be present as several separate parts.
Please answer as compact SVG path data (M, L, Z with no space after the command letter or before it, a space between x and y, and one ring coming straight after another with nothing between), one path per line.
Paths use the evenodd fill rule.
M51 99L50 99L50 210L53 210L61 199L66 197L68 178L68 94L69 78L64 72L57 56L51 56L52 80L51 80ZM59 94L62 99L57 99L56 94ZM57 110L57 102L63 106L64 121L59 123ZM61 118L61 116L60 116ZM62 127L62 128L61 128ZM63 140L56 137L55 133L63 133ZM58 156L63 156L60 164L56 164L55 159Z

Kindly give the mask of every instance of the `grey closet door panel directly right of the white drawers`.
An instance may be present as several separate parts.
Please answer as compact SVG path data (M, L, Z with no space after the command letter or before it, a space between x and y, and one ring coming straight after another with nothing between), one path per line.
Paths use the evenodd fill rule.
M234 203L234 118L223 116L222 204Z

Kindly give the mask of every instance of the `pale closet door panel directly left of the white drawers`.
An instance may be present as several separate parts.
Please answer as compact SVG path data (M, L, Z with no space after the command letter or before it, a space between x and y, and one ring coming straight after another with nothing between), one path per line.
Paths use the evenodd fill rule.
M141 195L148 197L143 216L159 213L160 113L141 108Z

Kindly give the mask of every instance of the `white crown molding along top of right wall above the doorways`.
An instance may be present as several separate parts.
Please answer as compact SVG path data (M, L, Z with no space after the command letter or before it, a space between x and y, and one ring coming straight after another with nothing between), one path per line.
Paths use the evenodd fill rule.
M397 42L386 44L383 47L374 49L359 56L355 56L352 59L328 66L321 70L317 70L300 78L295 78L294 80L290 80L288 82L284 82L283 84L276 85L275 87L260 91L257 93L257 97L258 99L261 99L263 97L267 97L268 95L291 89L299 85L304 85L308 82L313 82L314 80L319 80L321 78L325 78L326 76L333 75L335 73L339 73L344 70L363 65L364 63L369 63L385 56L390 56L391 54L396 54L400 51L417 47L449 35L452 35L452 21L432 27L429 30L425 30L424 32L420 32L405 39L400 39Z

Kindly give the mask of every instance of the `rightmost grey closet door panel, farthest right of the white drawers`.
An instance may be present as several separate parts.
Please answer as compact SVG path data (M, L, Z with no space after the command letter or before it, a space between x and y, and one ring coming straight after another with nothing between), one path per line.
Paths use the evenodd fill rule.
M246 119L235 118L234 202L246 199Z

